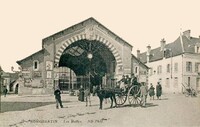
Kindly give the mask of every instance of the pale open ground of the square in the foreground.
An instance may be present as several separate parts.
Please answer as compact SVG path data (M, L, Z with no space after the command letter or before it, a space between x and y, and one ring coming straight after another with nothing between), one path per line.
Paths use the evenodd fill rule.
M64 108L56 109L54 96L15 96L1 97L2 111L0 126L12 127L189 127L200 126L200 97L185 97L180 94L163 95L161 100L147 99L147 107L130 107L127 104L110 109L110 102L103 103L99 110L98 98L92 97L92 106L86 107L85 102L78 102L77 97L62 94ZM5 107L4 103L15 102ZM18 103L29 105L15 111L4 108L15 107ZM33 103L43 102L35 106ZM46 104L45 104L46 103ZM21 105L19 105L21 106Z

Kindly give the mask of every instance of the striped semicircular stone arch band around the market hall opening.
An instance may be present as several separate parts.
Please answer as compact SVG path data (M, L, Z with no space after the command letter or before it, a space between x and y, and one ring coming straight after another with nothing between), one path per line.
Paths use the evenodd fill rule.
M56 55L55 55L55 65L58 66L58 63L60 61L60 57L62 55L62 53L64 52L64 50L72 43L78 41L78 40L83 40L83 39L88 39L91 40L91 37L88 37L87 34L78 34L75 36L72 36L71 38L67 39L65 42L63 42L63 44L60 46L60 48L58 49ZM117 70L121 70L123 68L122 65L122 58L119 54L119 52L117 51L117 49L114 47L114 45L109 42L107 39L105 39L104 37L101 37L100 35L95 35L92 40L96 40L101 42L102 44L104 44L113 54L115 60L116 60L116 69Z

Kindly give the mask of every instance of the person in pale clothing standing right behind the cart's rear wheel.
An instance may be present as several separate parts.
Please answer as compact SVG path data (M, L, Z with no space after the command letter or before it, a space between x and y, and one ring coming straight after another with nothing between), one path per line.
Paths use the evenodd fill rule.
M148 94L147 86L145 86L144 83L142 83L142 86L140 87L140 97L141 97L141 106L146 107L146 99Z

